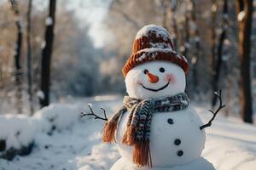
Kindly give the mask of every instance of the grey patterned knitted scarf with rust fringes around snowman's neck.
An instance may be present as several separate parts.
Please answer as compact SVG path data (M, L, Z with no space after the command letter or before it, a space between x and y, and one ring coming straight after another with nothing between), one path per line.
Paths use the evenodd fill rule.
M114 135L120 117L129 111L127 128L123 136L123 144L133 146L133 162L138 167L152 167L149 149L150 127L152 116L156 112L184 110L189 106L187 94L177 94L161 99L134 99L125 96L124 105L111 117L103 129L103 142L115 141Z

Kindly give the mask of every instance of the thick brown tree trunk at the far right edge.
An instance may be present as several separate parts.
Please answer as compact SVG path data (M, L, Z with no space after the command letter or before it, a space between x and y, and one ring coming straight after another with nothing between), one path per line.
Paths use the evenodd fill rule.
M253 0L236 0L238 20L238 57L240 60L239 101L240 114L244 122L253 123L250 50Z

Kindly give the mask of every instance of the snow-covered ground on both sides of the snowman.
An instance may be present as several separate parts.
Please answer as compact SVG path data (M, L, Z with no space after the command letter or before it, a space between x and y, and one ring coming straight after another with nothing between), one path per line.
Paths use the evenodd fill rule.
M102 121L79 116L86 103L92 103L98 114L102 114L100 107L105 108L109 116L121 105L121 99L80 99L49 105L32 117L0 116L0 140L6 139L7 150L33 144L28 156L15 156L12 161L0 159L0 170L108 170L119 159L119 153L114 144L101 142ZM195 108L207 122L211 117L208 107ZM256 127L218 115L207 128L203 156L218 170L255 169Z

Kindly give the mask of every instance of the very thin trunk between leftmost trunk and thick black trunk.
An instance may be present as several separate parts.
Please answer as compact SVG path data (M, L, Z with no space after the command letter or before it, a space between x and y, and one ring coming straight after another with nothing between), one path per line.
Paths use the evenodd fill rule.
M29 95L29 104L30 104L30 114L32 115L34 112L34 108L32 105L33 94L32 94L32 50L31 50L31 11L32 11L32 0L28 1L26 19L26 76L27 76L27 93Z

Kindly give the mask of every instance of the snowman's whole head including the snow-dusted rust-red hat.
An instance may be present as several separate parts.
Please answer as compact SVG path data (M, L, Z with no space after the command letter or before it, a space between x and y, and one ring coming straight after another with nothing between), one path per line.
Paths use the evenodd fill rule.
M137 99L183 93L188 72L189 63L174 50L169 32L154 25L137 32L132 54L123 67L127 93Z

